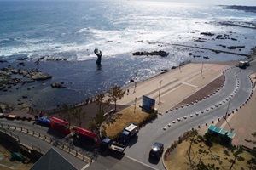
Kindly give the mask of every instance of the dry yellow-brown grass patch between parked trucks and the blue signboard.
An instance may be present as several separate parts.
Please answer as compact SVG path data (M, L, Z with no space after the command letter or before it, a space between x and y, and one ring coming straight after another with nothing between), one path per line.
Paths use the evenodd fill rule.
M125 126L131 122L141 124L145 119L150 116L149 113L137 108L134 111L134 106L127 107L126 109L115 113L108 121L103 123L107 136L115 139L117 135L124 129Z

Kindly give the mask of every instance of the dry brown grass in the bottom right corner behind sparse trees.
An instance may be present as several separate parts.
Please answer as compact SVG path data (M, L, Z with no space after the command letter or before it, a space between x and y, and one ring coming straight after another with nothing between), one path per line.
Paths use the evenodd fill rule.
M168 170L183 170L183 169L195 169L189 168L189 158L186 155L187 150L189 149L189 142L183 141L181 144L177 145L177 148L172 150L169 156L166 157L164 163ZM207 155L203 156L201 161L207 164L214 164L215 167L219 167L220 169L230 169L231 163L230 159L234 159L232 152L220 145L213 143L212 147L208 147L205 145L203 141L193 144L192 146L192 157L195 165L199 163L199 154L198 150L206 150L208 152ZM248 169L247 161L250 160L253 156L247 151L243 151L241 155L245 160L244 161L236 161L233 169Z

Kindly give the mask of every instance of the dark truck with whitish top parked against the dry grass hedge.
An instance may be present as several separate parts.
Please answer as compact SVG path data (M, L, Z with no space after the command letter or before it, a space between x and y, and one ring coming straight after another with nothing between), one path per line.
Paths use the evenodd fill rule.
M119 142L120 143L127 143L132 137L136 136L139 132L139 126L131 122L131 124L127 125L122 133L120 133L119 136Z

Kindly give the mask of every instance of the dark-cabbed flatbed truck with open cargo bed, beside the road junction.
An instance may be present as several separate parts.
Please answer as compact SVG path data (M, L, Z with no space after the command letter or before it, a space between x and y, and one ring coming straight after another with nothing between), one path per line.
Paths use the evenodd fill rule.
M112 139L105 138L102 140L100 144L100 150L105 151L113 151L115 153L123 153L125 151L126 146L123 144L119 144Z

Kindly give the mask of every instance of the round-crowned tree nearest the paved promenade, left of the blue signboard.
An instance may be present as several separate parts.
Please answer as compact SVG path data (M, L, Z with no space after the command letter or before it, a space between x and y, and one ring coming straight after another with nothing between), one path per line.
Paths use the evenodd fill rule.
M123 90L119 85L113 85L108 89L108 98L110 101L114 102L114 111L116 111L116 103L118 99L122 99L125 95L125 90Z

